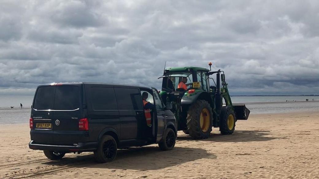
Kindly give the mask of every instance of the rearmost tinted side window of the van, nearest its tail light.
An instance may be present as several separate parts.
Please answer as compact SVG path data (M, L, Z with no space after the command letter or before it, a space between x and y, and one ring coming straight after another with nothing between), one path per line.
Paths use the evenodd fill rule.
M113 87L91 87L90 96L94 111L117 110Z

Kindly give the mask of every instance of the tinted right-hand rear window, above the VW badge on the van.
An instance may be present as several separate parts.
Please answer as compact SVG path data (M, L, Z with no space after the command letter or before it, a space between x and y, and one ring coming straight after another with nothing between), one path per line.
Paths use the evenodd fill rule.
M78 86L56 86L54 99L55 110L75 110L80 107L80 91Z

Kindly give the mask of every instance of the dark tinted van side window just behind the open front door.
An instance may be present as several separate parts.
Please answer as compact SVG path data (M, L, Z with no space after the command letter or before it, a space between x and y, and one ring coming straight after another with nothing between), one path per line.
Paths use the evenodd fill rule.
M135 88L114 88L119 110L143 110L142 96Z

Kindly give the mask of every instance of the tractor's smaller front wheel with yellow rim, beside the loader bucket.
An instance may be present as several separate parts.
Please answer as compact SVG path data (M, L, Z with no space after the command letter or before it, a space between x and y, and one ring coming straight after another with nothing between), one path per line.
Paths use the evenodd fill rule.
M223 135L232 134L235 130L236 116L230 106L222 107L219 131Z

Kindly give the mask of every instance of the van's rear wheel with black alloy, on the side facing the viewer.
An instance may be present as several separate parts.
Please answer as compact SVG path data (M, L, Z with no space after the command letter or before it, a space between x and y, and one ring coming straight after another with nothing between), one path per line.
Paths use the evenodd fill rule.
M99 146L94 152L94 159L99 163L111 162L115 159L116 154L116 140L110 135L105 135L101 138Z

